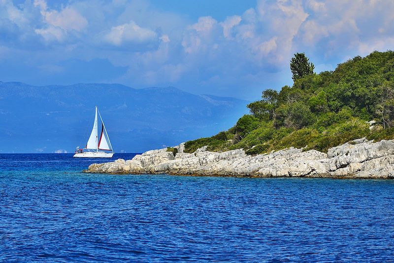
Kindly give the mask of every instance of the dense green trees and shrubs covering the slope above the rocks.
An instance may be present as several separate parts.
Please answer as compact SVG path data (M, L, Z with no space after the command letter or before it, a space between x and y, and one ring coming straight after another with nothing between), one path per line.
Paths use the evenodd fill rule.
M262 100L249 104L250 114L234 127L189 141L186 151L205 145L213 151L243 148L248 154L291 146L327 151L362 137L394 138L393 51L357 56L320 74L313 73L306 57L296 60L297 55L292 63L306 65L297 66L305 69L300 75L292 68L292 87L263 91ZM376 123L370 127L371 120Z

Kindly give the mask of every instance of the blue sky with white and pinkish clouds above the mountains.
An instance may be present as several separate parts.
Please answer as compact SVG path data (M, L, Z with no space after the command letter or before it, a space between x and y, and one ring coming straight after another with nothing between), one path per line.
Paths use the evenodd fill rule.
M0 0L0 81L174 86L256 100L394 45L392 0Z

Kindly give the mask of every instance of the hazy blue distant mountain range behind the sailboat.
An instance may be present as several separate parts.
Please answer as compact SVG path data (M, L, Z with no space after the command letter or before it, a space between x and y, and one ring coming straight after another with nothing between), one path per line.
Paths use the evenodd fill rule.
M86 145L95 106L115 152L142 152L226 130L248 102L174 87L32 86L0 81L0 153L73 152Z

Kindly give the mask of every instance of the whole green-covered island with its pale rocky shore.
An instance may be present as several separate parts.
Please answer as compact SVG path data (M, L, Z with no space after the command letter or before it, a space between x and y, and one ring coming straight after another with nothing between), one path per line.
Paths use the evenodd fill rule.
M293 86L264 90L228 131L84 172L394 178L394 52L320 74L296 53L290 68Z

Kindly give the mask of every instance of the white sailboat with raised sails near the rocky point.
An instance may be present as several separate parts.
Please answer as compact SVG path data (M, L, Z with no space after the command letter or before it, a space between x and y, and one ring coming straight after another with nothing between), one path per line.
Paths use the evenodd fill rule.
M98 134L98 114L101 121L101 134L99 138ZM86 151L85 151L86 150ZM101 150L101 151L99 151ZM103 150L110 150L106 152ZM79 149L79 146L75 150L73 157L82 158L111 158L114 155L112 150L111 142L109 141L107 130L105 129L104 122L102 121L99 110L96 106L95 122L93 123L92 133L90 134L88 143L84 149Z

